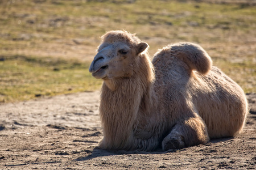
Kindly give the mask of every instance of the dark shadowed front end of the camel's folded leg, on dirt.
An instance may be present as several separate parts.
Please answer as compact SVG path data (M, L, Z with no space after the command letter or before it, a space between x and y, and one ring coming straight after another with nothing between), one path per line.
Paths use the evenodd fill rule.
M176 136L176 138L174 138L169 134L166 138L163 139L163 142L162 142L162 148L164 151L175 150L175 149L180 149L184 147L185 147L184 138L181 136Z

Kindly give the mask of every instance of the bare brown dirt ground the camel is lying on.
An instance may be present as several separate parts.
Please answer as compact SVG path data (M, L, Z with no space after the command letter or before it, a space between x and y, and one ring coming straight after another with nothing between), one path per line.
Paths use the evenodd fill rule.
M256 94L247 94L244 132L162 152L105 151L100 92L0 105L0 169L255 169Z

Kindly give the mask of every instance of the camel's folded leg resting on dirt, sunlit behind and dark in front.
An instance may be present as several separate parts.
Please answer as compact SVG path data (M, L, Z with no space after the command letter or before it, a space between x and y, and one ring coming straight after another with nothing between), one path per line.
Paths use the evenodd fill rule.
M208 141L207 127L201 117L189 117L177 122L171 133L163 139L162 148L166 151L205 144Z

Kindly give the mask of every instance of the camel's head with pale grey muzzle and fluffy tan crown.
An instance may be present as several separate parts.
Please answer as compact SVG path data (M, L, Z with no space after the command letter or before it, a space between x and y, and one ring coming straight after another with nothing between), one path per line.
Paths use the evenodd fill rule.
M97 79L129 78L138 67L138 56L147 46L126 31L107 32L102 36L89 71Z

